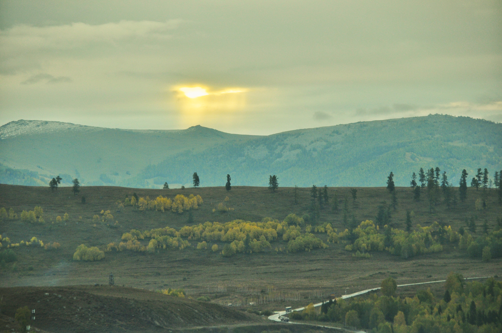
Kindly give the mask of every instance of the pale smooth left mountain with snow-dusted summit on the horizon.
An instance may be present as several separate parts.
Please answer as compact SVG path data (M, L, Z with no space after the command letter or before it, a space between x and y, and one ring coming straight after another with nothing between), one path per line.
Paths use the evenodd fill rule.
M13 121L0 127L0 182L39 186L61 175L63 185L71 184L73 178L84 185L118 185L173 154L254 137L201 126L127 130L56 121ZM158 188L162 184L163 179L151 179L135 185Z

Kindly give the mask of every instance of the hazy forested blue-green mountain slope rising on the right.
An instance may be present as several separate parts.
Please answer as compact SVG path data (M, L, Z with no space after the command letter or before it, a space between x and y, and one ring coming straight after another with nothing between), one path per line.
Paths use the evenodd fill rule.
M147 167L130 186L155 177L189 183L197 171L203 186L385 186L391 171L397 186L411 174L439 167L458 186L462 169L473 177L502 169L502 124L468 117L429 115L294 130L246 142L228 142L201 152L185 151ZM192 171L193 170L193 171Z

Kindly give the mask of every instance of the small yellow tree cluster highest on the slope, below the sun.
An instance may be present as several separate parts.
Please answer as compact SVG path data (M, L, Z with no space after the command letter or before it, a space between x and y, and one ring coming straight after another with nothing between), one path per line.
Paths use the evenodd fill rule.
M126 199L119 202L118 206L119 208L124 206L133 206L140 211L156 210L165 212L166 210L170 210L173 213L181 214L190 209L198 209L203 202L204 201L201 196L194 196L193 194L189 195L188 198L182 194L178 194L174 199L159 196L156 199L151 200L148 196L146 198L139 198L136 193L134 193L131 198L126 196Z

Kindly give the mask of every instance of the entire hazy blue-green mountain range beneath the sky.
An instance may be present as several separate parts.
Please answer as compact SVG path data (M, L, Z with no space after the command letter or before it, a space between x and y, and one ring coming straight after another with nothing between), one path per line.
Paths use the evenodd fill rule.
M413 172L439 167L458 184L487 168L502 169L502 124L449 115L357 122L267 136L185 130L124 130L20 120L0 127L0 182L46 185L61 174L68 185L137 188L189 186L382 186L393 171L397 186Z

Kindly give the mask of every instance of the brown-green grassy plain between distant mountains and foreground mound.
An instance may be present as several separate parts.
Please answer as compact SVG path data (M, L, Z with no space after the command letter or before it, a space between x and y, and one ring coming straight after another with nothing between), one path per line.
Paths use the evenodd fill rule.
M390 194L384 188L358 188L357 199L352 202L349 188L329 188L329 198L336 191L340 210L335 214L330 208L319 209L319 218L310 221L312 224L330 222L334 228L343 230L342 207L347 196L348 219L352 216L356 221L375 220L378 206L385 200L391 201ZM457 191L458 189L454 189ZM413 211L413 227L429 226L434 221L443 225L451 225L458 231L465 227L465 219L475 217L478 234L482 233L482 224L486 220L489 231L500 218L500 206L495 191L469 188L465 203L458 203L448 210L441 202L433 212L422 200L415 202L409 188L397 188L397 210L392 210L392 225L395 228L405 227L406 211ZM116 212L116 202L126 195L136 193L139 197L156 198L159 195L174 198L178 194L200 195L204 203L190 215L155 210L139 211L125 207ZM86 204L81 203L81 196L86 197ZM228 213L213 213L216 206L229 200L226 205L234 208ZM476 211L475 201L484 198L486 209ZM272 242L272 250L253 253L236 254L230 258L223 257L219 251L197 250L197 241L190 241L192 246L183 250L159 250L153 254L144 252L106 252L101 261L73 261L72 255L80 244L97 246L104 249L110 242L120 242L121 235L131 229L150 230L170 226L179 230L185 225L196 225L206 221L228 222L235 219L261 221L264 217L283 220L288 214L303 215L309 213L310 189L300 188L297 193L298 204L295 205L294 189L279 188L270 193L266 188L233 187L230 192L224 188L198 188L186 190L154 190L128 189L116 187L84 187L78 196L73 196L70 188L60 188L51 192L48 188L0 185L0 207L13 208L18 215L22 210L33 210L41 206L44 210L45 224L32 224L20 220L0 222L0 234L9 237L12 242L30 240L37 237L44 243L58 242L61 248L55 251L40 247L20 246L14 248L18 256L14 263L8 263L0 271L2 286L22 285L71 285L107 283L108 274L113 272L118 285L141 287L147 289L184 288L188 296L208 297L219 304L247 304L257 302L260 309L277 309L285 304L303 306L305 303L319 301L330 293L342 294L347 290L359 290L379 285L387 276L393 276L398 283L422 282L430 279L442 279L447 272L459 271L466 277L492 276L499 274L500 261L495 258L483 262L469 257L459 251L455 244L443 245L444 250L438 253L424 254L403 259L388 252L373 252L372 258L358 259L352 252L345 251L345 244L327 243L327 235L314 233L323 239L329 247L300 251L297 253L276 252L275 247L285 247L287 242ZM101 210L110 210L118 221L116 228L106 223L92 221L93 215ZM69 214L65 223L52 224L57 216ZM82 217L80 219L79 217ZM304 228L302 228L303 232ZM186 239L186 238L185 238ZM145 244L147 244L146 241ZM219 248L223 246L221 242ZM210 243L209 247L213 244ZM243 291L257 290L255 294ZM271 289L272 288L272 289ZM268 301L260 304L261 297L274 292L289 295L280 301ZM323 296L324 295L324 296Z

